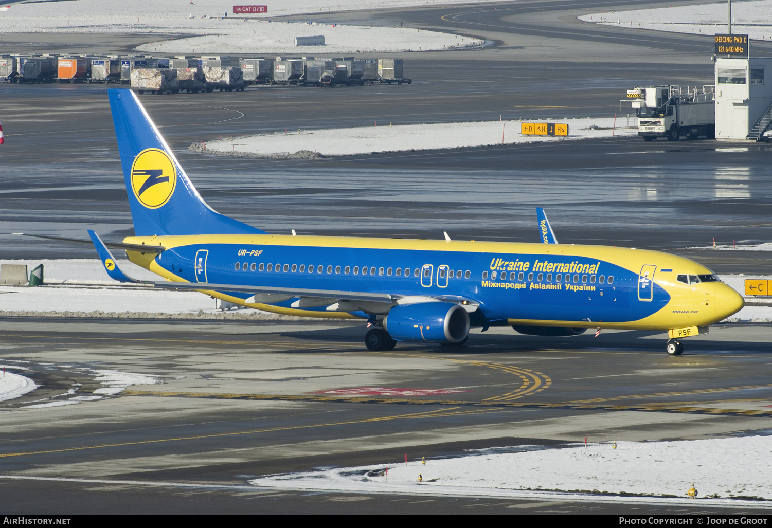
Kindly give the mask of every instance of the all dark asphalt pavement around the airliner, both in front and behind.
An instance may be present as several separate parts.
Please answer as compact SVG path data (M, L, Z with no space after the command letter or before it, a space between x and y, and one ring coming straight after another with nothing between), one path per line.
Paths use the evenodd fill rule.
M410 86L250 88L141 100L208 203L269 232L439 238L448 231L459 239L533 241L533 207L540 205L561 242L665 249L717 272L768 272L767 252L689 249L713 237L769 240L764 144L611 138L318 160L187 150L220 134L284 127L609 117L620 113L631 86L711 83L712 44L704 39L575 20L582 10L633 4L642 6L517 2L501 13L501 5L346 13L337 15L340 22L412 21L473 31L496 46L405 54ZM566 10L557 15L560 6ZM521 16L515 7L531 12ZM116 49L133 38L116 39ZM100 46L93 36L60 42L69 51L84 42ZM0 85L0 231L130 234L105 88ZM10 235L0 235L0 243L4 259L93 257L87 248ZM245 482L405 452L766 432L769 330L713 327L690 340L681 357L666 357L664 338L650 333L562 339L509 329L474 333L461 350L400 345L374 354L364 351L361 324L9 317L0 320L2 358L28 368L42 386L2 402L2 473L24 479L0 479L0 486L14 508L8 513L651 511L591 501L277 493ZM26 408L44 398L65 401L70 389L93 395L100 384L89 373L96 370L149 374L162 383ZM329 392L365 387L441 392Z

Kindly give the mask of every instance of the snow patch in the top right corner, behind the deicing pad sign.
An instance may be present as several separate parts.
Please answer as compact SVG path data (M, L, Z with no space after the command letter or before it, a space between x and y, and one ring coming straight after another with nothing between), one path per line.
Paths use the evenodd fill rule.
M638 11L608 11L582 15L579 19L626 28L703 34L713 39L715 33L726 33L726 2ZM733 33L747 34L750 39L772 40L770 19L772 2L769 0L732 2Z

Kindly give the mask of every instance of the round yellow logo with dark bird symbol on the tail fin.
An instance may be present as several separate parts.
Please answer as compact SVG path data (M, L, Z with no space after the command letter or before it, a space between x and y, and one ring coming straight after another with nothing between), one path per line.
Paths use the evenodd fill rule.
M147 208L157 209L174 193L177 170L174 161L164 151L147 148L137 154L131 165L131 189Z

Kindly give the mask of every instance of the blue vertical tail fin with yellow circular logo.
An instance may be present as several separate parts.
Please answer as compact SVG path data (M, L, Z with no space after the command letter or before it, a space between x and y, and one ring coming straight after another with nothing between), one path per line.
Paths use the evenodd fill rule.
M207 205L132 90L108 93L135 235L262 233Z

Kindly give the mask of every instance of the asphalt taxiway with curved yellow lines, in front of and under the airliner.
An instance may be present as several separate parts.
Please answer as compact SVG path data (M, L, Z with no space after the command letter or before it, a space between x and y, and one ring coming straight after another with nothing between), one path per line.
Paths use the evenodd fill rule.
M363 331L313 321L0 321L5 364L42 384L2 402L2 473L14 477L0 479L4 496L14 497L15 508L6 511L120 512L122 501L164 482L179 484L156 491L169 501L165 511L181 511L195 495L205 496L196 506L201 511L215 503L217 511L233 507L238 496L266 495L250 491L247 481L276 472L585 437L711 438L772 428L764 326L715 327L690 341L681 357L667 357L659 350L662 337L643 332L538 338L478 330L459 350L400 345L372 353L361 344ZM88 369L137 372L159 383L66 404L69 389L78 397L97 394L99 381ZM48 406L29 407L41 401ZM25 499L22 490L33 485L51 502ZM91 489L120 499L87 503ZM219 503L218 496L228 499ZM267 509L262 500L245 500L235 511L334 508L333 499L317 493L273 496ZM388 500L410 511L410 501ZM432 501L431 509L482 504ZM588 511L591 504L561 509Z

